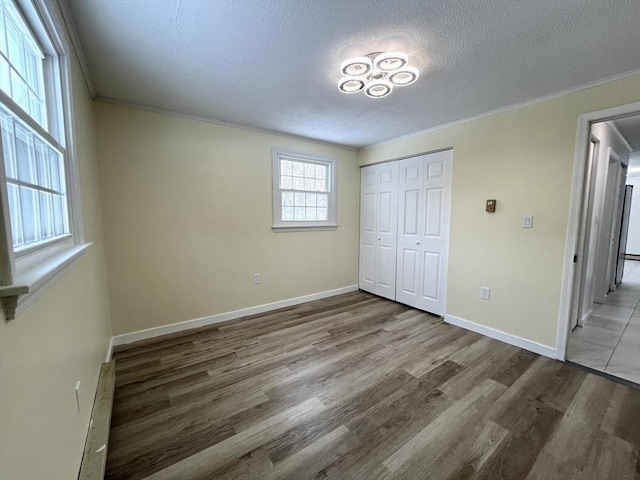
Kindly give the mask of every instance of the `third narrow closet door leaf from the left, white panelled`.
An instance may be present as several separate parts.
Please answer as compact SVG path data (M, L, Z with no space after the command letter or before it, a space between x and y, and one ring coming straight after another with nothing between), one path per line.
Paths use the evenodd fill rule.
M421 308L425 157L398 162L398 261L396 300Z

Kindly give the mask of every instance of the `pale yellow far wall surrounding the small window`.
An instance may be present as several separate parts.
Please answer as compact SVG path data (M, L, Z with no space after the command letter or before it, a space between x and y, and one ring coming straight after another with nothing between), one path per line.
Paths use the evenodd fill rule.
M115 334L357 284L355 151L95 109ZM272 147L338 158L337 230L271 230Z

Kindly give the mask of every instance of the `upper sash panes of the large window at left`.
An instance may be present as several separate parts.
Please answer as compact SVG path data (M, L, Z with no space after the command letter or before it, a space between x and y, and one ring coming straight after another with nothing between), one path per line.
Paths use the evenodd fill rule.
M29 116L45 130L47 129L47 108L44 88L44 55L37 48L37 40L20 18L11 3L0 0L2 35L0 37L0 88L7 93ZM22 28L21 28L22 26ZM16 54L11 53L10 31L16 33L18 56L21 67L14 62ZM19 94L18 90L22 90Z

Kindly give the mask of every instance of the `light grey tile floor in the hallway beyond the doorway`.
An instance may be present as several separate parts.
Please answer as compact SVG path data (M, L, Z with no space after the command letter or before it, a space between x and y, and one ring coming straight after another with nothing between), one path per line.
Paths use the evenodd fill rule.
M567 358L640 384L640 261L625 261L620 286L571 332Z

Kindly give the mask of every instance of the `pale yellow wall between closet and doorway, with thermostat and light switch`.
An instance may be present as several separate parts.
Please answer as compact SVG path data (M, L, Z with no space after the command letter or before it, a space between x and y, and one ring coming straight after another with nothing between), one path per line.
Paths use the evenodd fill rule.
M635 75L360 151L366 165L453 147L449 315L555 348L577 117L638 100Z

